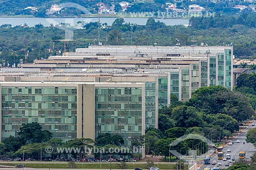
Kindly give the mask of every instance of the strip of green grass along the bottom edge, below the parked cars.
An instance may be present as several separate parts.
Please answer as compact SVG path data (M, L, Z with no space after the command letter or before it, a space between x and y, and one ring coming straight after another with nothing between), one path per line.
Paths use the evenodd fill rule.
M10 165L10 166L15 166L17 164L22 164L22 162L12 162L12 163L0 163L1 165ZM100 168L100 163L75 163L76 164L76 168ZM119 163L112 163L112 168L113 169L118 169ZM128 169L134 169L135 167L140 167L140 168L147 168L145 163L126 163L127 164L127 168ZM25 167L32 167L32 168L67 168L68 167L68 163L58 163L58 162L53 162L53 163L27 163L24 162ZM157 163L155 163L154 166L157 166ZM102 162L101 163L101 167L102 168L110 168L110 163L105 163ZM160 169L176 169L176 165L175 164L160 164L159 163L159 168Z

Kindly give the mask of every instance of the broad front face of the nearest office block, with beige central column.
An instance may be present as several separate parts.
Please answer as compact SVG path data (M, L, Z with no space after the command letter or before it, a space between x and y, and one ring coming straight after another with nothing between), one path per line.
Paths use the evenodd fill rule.
M0 139L38 122L63 140L145 134L145 83L1 82Z

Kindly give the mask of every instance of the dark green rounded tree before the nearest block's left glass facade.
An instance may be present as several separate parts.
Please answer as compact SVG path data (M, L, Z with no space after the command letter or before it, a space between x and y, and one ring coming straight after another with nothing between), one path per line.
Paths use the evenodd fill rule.
M42 127L37 122L22 124L18 135L24 138L29 143L46 142L52 138L52 133L48 130L42 130Z

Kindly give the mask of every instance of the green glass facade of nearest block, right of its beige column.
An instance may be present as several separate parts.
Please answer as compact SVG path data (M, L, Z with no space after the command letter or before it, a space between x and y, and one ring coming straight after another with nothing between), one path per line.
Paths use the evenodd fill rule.
M120 135L124 145L142 134L142 89L138 87L96 87L95 138Z

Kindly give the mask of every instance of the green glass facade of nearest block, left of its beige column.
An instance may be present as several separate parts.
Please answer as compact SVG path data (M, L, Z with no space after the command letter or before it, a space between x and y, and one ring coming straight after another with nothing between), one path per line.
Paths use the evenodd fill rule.
M74 87L2 87L2 138L32 122L53 137L76 138L76 100Z

